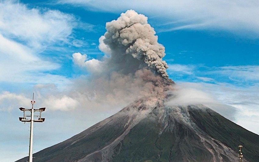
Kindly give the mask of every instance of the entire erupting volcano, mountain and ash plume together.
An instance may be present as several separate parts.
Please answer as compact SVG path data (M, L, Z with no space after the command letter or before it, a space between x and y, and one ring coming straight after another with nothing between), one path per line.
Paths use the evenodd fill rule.
M240 144L243 161L259 161L257 134L203 105L170 104L177 94L169 91L177 89L162 60L165 47L158 43L146 16L128 10L107 22L105 28L99 48L107 55L101 61L73 53L73 62L87 68L90 75L75 83L79 87L75 86L76 95L86 101L87 96L94 96L96 101L130 98L128 102L135 102L80 134L35 153L34 161L238 161Z

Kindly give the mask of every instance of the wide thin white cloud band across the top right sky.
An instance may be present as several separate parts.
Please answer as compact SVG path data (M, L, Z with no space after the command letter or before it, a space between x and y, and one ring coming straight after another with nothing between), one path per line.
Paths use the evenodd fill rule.
M118 0L59 0L60 3L70 3L85 6L89 9L100 9L120 13L134 9L149 17L161 20L160 31L180 29L222 29L237 34L254 33L259 35L259 3L248 1L213 1L213 0L183 0L183 1L118 1ZM116 6L116 7L115 7ZM243 32L239 32L243 31Z

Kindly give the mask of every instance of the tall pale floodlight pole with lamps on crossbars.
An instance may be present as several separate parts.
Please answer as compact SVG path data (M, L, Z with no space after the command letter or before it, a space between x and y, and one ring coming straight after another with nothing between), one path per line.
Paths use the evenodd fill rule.
M40 109L34 109L33 105L36 103L34 101L34 93L32 95L32 101L30 101L32 104L31 109L25 109L25 108L19 108L21 111L23 111L23 117L19 117L19 120L21 122L30 122L30 147L29 147L29 162L32 162L32 142L33 142L33 123L34 122L44 122L45 118L41 118L41 112L45 111L46 108L40 108ZM26 112L30 112L30 114L26 114ZM34 112L37 112L36 115L34 115ZM27 119L26 117L30 117L30 119ZM38 117L37 120L34 120L34 117Z

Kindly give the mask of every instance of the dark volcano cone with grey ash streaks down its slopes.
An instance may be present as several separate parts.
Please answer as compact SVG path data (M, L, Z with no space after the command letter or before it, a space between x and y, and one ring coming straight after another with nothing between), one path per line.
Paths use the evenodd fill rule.
M148 108L145 102L35 153L34 161L237 161L242 144L244 161L258 162L259 136L213 110L203 105Z

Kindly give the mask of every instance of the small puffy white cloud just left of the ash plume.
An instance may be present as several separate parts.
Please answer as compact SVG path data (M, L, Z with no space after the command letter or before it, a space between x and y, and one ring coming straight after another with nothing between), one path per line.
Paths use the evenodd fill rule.
M81 54L81 53L73 53L73 62L83 68L86 68L89 72L100 72L102 65L101 61L97 59L90 59L87 60L87 55L86 54Z

